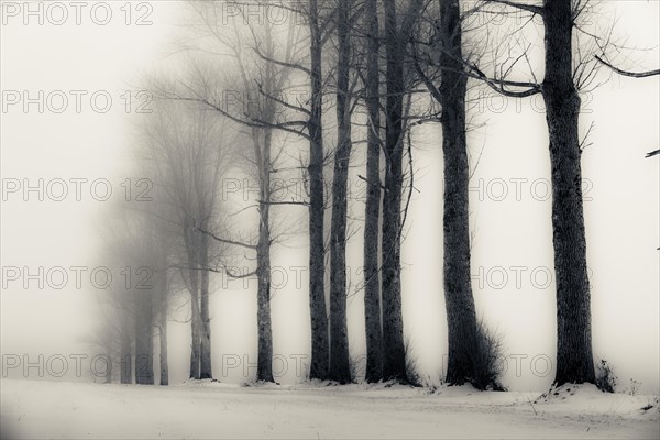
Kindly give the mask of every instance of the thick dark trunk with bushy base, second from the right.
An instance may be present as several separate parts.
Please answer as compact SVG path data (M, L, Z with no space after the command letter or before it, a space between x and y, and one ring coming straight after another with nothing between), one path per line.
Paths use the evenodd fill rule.
M468 78L461 74L461 15L458 0L440 1L438 88L442 105L444 157L444 301L449 330L447 383L462 385L476 377L480 345L470 278L469 163L465 139Z

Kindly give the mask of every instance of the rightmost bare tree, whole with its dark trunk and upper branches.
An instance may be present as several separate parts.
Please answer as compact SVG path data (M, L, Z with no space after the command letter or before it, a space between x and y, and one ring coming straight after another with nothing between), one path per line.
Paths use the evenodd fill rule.
M582 199L582 142L580 125L580 89L585 87L597 66L584 56L578 35L586 34L597 47L608 44L585 32L580 19L588 0L543 0L542 4L508 0L486 0L490 4L538 15L543 23L544 77L541 82L515 81L507 76L518 61L529 58L527 52L509 63L495 67L488 78L471 65L474 77L485 80L501 94L527 97L541 94L546 103L546 121L550 139L549 152L552 183L552 244L557 277L557 374L554 383L595 382L591 331L591 292L586 270L586 239ZM575 32L574 32L575 31ZM531 73L534 78L534 72Z

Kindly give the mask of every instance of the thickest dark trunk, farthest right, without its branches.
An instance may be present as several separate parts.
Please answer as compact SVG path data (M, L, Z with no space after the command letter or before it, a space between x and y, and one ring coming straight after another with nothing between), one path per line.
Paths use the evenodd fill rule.
M546 1L542 94L552 167L552 243L557 278L558 385L595 382L582 206L580 97L573 82L571 0Z

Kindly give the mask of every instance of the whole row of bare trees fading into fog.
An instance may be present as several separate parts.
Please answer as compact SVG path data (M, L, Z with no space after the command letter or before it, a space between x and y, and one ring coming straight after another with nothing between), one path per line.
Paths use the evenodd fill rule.
M580 92L592 85L602 65L612 66L607 54L616 45L610 35L588 29L590 22L583 20L590 11L593 22L588 1L256 3L297 20L275 22L267 19L272 14L255 19L240 3L191 2L188 24L194 37L184 45L185 72L150 82L158 100L140 129L136 163L141 175L155 183L154 202L121 211L111 227L116 233L109 249L118 264L148 267L152 288L127 286L109 296L101 331L108 352L134 359L135 377L141 377L136 382L153 383L152 341L157 329L161 383L166 384L166 323L174 305L182 307L184 301L189 304L190 377L212 377L210 274L254 276L256 380L273 382L271 253L283 232L277 231L273 212L302 207L308 210L309 237L309 377L351 382L346 243L353 217L349 201L355 195L348 183L350 167L356 166L353 160L362 154L365 177L360 177L366 189L358 196L364 198L360 288L366 381L410 381L400 278L403 231L414 188L410 133L436 122L442 128L444 160L446 381L497 387L492 362L496 341L477 322L470 277L469 97L472 87L490 87L520 98L540 94L546 103L557 275L556 383L594 383ZM228 14L228 4L239 13ZM509 26L498 22L495 32L493 16L528 20L524 26L515 20ZM527 43L534 26L543 29L542 80L536 79L541 74L532 67L538 54ZM498 47L506 47L506 54ZM526 74L525 66L529 79L517 79ZM300 89L304 94L292 92ZM356 148L363 144L365 148ZM257 200L241 209L255 211L248 231L231 223L235 207L219 197L222 179L232 173L258 183ZM301 199L274 197L273 176L283 173L304 182ZM287 229L295 230L292 224ZM230 268L240 253L250 253L249 260L255 262L252 272ZM148 361L140 361L143 358ZM124 362L121 382L130 381L131 362Z

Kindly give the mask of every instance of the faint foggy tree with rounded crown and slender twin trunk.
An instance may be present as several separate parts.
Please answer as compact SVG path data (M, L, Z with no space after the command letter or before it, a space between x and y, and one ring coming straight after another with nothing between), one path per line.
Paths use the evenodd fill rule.
M158 101L144 127L144 158L154 168L168 211L156 213L175 226L182 252L173 264L190 294L190 378L211 378L209 267L216 250L202 231L217 222L221 177L228 169L229 139L223 119L199 105Z

